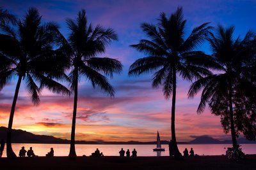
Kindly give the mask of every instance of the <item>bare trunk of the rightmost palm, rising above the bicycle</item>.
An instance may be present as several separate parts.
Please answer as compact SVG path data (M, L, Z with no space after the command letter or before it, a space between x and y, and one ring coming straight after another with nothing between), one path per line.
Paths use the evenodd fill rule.
M232 143L233 147L237 147L237 141L236 141L236 131L234 126L234 114L233 114L233 104L232 104L232 85L229 81L228 85L228 97L229 97L229 112L230 112L230 129L231 129L231 137L232 137Z

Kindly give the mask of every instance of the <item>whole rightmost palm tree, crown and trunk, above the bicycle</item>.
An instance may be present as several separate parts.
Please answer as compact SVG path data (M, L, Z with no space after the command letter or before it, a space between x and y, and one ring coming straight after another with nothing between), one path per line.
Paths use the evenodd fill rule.
M234 97L237 94L244 96L246 88L255 90L249 76L245 76L248 75L249 68L246 62L252 57L250 43L255 39L255 33L248 31L241 40L239 37L234 39L233 32L233 26L225 29L222 25L218 25L216 34L210 34L208 40L212 48L212 59L216 62L216 74L195 81L189 89L188 96L194 97L203 89L197 112L202 113L205 105L209 103L211 112L221 115L221 124L225 131L231 131L232 143L236 147Z

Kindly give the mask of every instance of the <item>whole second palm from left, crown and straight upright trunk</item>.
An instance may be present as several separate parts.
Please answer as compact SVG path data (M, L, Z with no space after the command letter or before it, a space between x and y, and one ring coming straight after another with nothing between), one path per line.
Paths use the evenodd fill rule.
M114 89L109 84L106 76L113 77L113 73L122 71L122 64L116 59L108 57L96 57L99 53L104 53L106 46L112 40L117 40L117 36L113 29L104 29L97 25L93 29L92 25L88 25L86 12L81 10L76 20L67 19L68 41L63 38L63 45L70 57L70 80L71 89L74 90L74 110L72 118L72 131L70 141L70 159L76 158L75 150L75 129L76 129L76 113L77 113L77 85L80 77L86 78L92 82L93 88L96 86L101 90L114 96ZM104 74L104 75L103 75Z

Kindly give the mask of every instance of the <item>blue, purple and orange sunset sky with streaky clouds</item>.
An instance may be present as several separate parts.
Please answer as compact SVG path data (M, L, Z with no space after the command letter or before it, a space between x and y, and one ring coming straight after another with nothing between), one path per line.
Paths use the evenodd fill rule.
M246 0L2 0L1 7L19 18L29 7L35 7L43 22L54 21L67 37L67 18L74 19L79 10L86 10L88 21L111 27L118 34L118 41L111 43L98 57L118 59L124 65L121 74L115 74L109 82L115 88L115 97L109 97L90 82L81 80L78 90L76 140L84 141L155 141L157 131L161 140L171 139L171 100L166 101L162 89L152 89L152 74L128 76L132 62L145 54L129 45L140 39L148 39L141 31L143 22L157 24L161 12L170 16L182 6L186 34L193 27L205 22L212 26L235 26L234 37L243 37L249 29L256 31L256 1ZM208 43L198 50L211 54ZM0 126L7 127L17 78L0 91ZM177 141L191 141L197 136L209 135L216 139L230 139L216 117L206 108L198 115L196 109L200 94L188 99L191 82L178 78L175 113ZM13 129L34 134L70 139L74 96L57 96L44 90L40 105L33 106L23 84L15 110ZM243 136L243 135L242 135Z

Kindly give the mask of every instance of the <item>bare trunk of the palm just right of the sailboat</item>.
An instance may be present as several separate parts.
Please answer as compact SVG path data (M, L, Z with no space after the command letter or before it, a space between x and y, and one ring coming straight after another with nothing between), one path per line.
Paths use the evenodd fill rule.
M175 135L175 103L176 103L176 68L173 66L173 89L172 89L172 145L173 155L175 159L183 159L179 148L177 146L176 135Z

